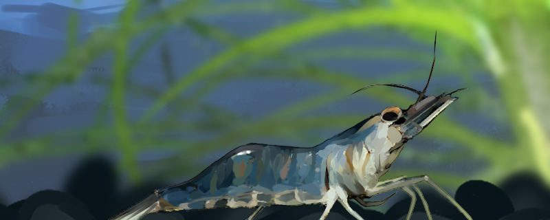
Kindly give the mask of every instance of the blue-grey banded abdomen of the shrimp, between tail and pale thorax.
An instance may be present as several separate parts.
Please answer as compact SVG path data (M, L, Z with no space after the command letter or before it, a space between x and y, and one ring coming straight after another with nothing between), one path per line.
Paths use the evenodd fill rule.
M247 144L158 192L184 210L318 203L324 192L317 157L315 148Z

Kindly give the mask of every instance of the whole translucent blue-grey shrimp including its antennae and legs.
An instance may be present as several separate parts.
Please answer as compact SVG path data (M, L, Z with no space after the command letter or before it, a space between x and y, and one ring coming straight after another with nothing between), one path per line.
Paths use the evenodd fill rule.
M377 206L389 197L384 201L364 199L395 189L404 190L412 197L407 215L407 219L410 219L416 202L415 192L411 188L416 190L428 218L432 219L428 203L416 186L422 181L441 192L467 219L472 219L428 175L401 176L380 181L380 177L388 172L406 142L418 135L457 99L452 97L454 91L439 96L425 96L431 75L430 71L423 91L404 85L384 84L408 89L419 95L408 109L388 107L317 146L239 146L196 177L155 190L111 220L135 220L159 211L237 207L257 208L248 217L253 219L267 206L314 203L326 206L320 216L320 219L325 219L336 201L342 203L353 217L362 219L349 206L349 199L357 200L362 206ZM373 86L377 85L362 89Z

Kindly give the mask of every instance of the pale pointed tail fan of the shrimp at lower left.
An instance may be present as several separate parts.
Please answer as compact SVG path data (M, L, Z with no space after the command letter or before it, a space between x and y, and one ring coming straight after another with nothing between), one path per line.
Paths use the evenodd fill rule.
M123 212L115 215L109 220L137 220L145 217L146 214L159 211L159 196L156 193L151 193L142 201L136 203Z

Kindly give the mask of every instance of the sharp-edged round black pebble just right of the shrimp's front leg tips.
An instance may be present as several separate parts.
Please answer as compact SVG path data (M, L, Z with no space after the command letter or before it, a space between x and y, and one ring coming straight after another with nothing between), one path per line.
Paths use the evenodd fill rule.
M506 193L487 181L465 182L456 190L455 199L472 219L500 219L514 212Z

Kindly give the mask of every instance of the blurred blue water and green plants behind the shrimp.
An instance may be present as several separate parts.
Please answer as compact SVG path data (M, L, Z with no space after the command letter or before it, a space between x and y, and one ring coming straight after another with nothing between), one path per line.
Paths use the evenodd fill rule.
M423 89L436 30L427 94L467 90L382 179L428 174L454 195L471 179L502 186L529 174L550 188L550 1L3 0L0 7L6 206L40 190L84 186L142 188L132 195L139 200L237 146L315 146L386 107L406 109L417 96L404 89L349 94L379 83ZM83 168L98 158L115 169Z

